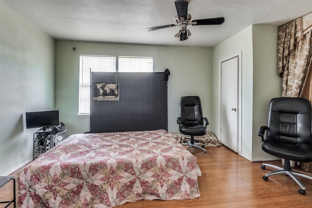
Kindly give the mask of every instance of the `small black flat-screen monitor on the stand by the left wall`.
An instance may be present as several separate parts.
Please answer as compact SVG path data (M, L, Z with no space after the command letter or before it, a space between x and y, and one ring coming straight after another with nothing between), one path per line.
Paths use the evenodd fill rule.
M26 128L59 125L59 110L26 112Z

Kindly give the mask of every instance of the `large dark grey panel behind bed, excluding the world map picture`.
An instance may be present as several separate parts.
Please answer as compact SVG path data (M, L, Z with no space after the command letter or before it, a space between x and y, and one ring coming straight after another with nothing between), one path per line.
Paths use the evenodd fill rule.
M93 101L94 83L118 83L119 101ZM164 73L91 72L90 131L167 129Z

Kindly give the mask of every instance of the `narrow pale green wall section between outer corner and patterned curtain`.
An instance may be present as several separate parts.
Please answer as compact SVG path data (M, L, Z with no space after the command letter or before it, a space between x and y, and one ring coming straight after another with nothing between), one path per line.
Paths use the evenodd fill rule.
M253 25L253 146L252 160L272 157L261 149L257 135L261 125L267 125L270 100L282 97L282 79L277 72L277 27Z

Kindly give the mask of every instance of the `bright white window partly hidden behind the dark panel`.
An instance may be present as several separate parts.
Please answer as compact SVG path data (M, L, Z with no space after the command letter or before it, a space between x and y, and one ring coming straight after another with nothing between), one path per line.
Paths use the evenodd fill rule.
M117 68L118 65L118 68ZM78 115L90 114L90 71L153 72L151 57L80 56Z

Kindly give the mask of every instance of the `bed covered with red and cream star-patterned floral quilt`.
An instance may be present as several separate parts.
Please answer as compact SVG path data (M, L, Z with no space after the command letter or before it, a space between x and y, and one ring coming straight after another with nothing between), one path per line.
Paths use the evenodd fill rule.
M18 207L112 208L200 196L196 158L165 130L74 134L18 173Z

